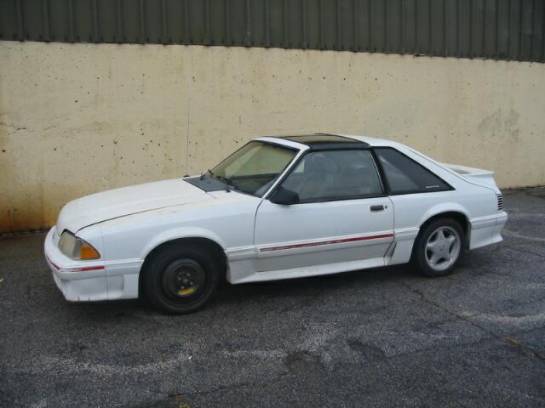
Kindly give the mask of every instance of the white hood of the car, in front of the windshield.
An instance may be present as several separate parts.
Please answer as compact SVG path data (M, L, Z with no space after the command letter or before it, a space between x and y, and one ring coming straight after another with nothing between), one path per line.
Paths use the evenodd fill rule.
M66 204L59 214L57 231L76 233L89 225L131 214L213 199L182 179L108 190Z

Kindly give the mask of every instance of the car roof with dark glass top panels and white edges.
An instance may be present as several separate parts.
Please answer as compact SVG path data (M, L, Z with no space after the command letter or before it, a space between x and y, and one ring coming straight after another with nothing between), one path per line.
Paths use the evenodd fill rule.
M335 148L361 148L369 146L393 146L396 143L386 139L341 133L308 133L282 136L266 136L257 140L269 141L298 149L326 150Z

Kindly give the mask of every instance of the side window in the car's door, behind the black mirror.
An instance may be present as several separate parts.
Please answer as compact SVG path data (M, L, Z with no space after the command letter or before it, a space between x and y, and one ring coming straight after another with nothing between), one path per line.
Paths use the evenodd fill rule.
M300 203L350 200L383 194L368 150L331 150L306 154L282 183Z

